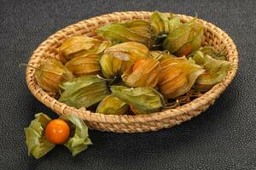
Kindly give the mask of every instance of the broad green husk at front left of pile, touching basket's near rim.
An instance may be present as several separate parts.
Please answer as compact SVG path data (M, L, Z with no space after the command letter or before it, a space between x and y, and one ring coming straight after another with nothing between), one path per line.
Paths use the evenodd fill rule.
M60 102L76 108L90 107L108 96L107 82L101 77L84 76L74 78L61 85Z

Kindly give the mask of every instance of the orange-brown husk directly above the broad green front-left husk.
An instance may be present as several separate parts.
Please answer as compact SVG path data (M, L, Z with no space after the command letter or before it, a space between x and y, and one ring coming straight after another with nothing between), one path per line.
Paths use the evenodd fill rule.
M76 77L84 75L98 75L102 73L99 54L76 57L66 63L67 70L73 72Z

